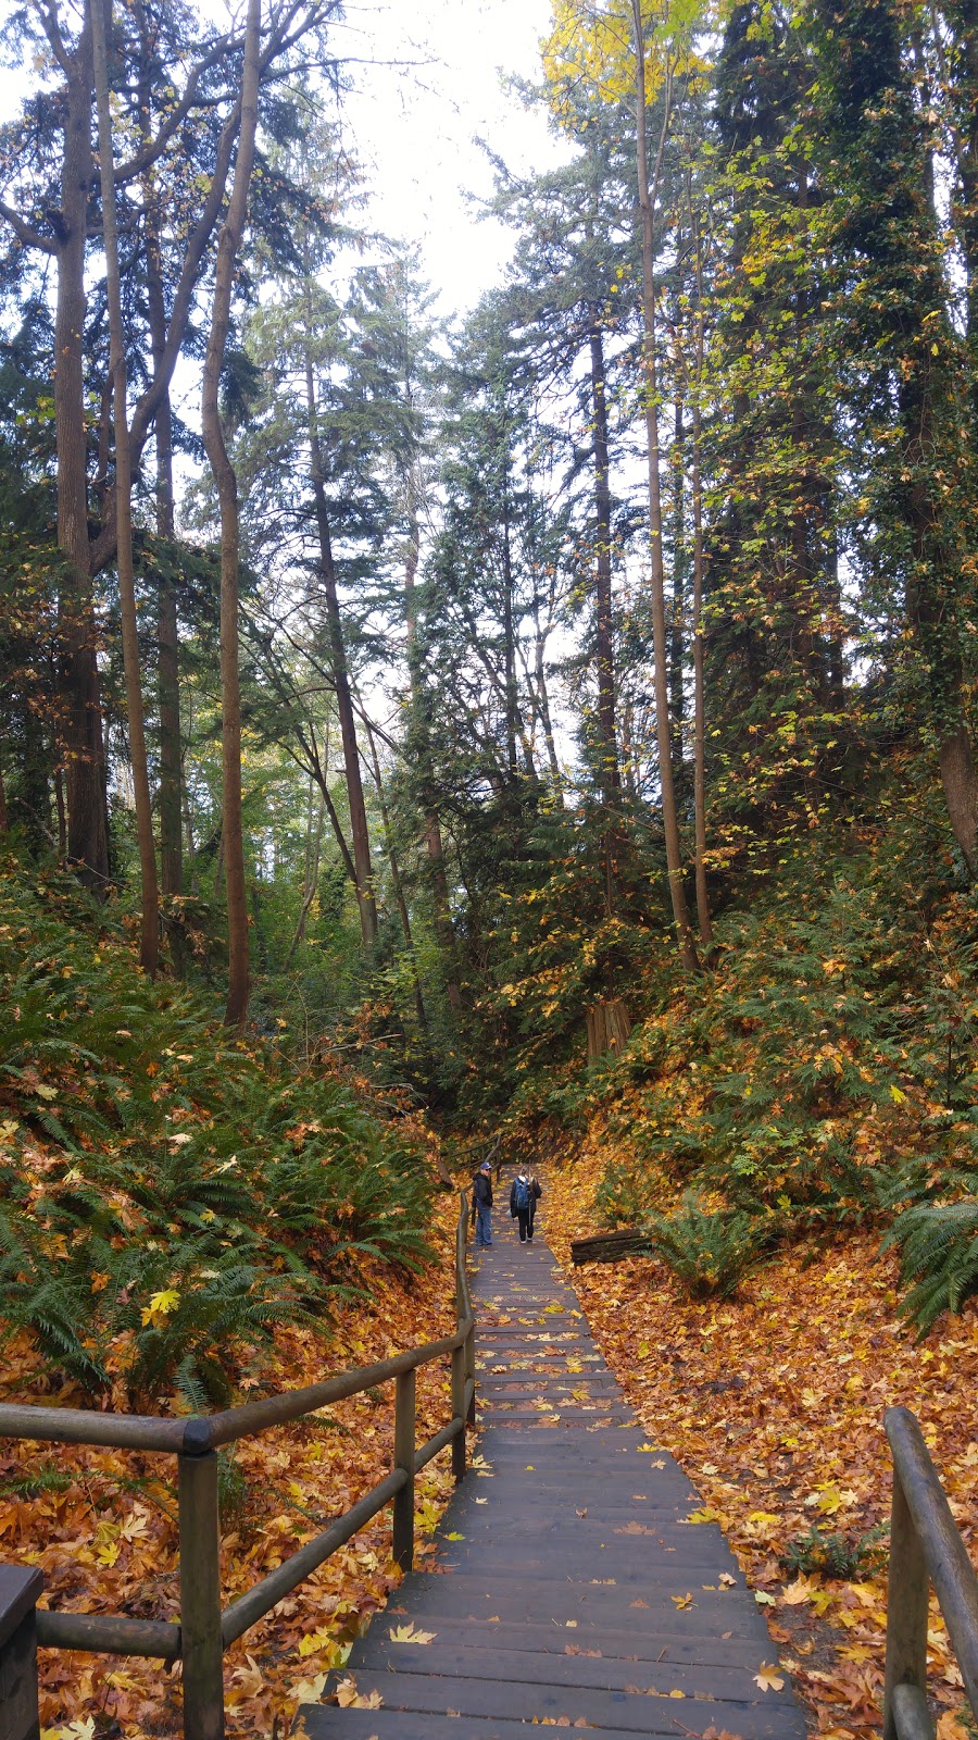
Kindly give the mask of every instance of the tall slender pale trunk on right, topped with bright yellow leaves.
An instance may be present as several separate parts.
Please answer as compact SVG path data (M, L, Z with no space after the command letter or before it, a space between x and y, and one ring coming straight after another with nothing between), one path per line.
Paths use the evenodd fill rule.
M691 969L700 966L696 941L689 924L686 891L682 887L682 854L679 847L679 818L675 809L675 786L672 780L672 733L668 719L668 644L665 626L665 569L663 569L663 510L660 484L660 425L658 425L658 386L656 386L656 278L654 278L654 240L653 240L653 197L649 193L649 164L646 146L646 42L642 31L640 0L632 0L632 21L635 33L635 118L639 130L637 169L639 169L639 209L642 214L642 372L646 398L646 435L649 445L649 539L651 539L651 593L653 593L653 651L656 659L654 698L656 698L656 741L660 752L660 785L663 806L665 854L668 870L668 889L672 898L672 915L682 950L684 964ZM663 134L660 141L660 160L656 164L656 184L668 129L668 111L672 96L672 78L667 77L663 94Z

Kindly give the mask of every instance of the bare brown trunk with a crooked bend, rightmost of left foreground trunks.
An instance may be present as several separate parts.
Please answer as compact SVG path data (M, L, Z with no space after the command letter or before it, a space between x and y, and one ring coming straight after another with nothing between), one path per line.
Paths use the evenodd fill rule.
M228 1002L224 1021L242 1027L249 999L247 889L242 820L242 696L238 668L238 485L224 445L218 383L231 317L235 259L242 244L247 191L258 130L258 56L261 0L249 0L242 68L242 118L238 157L228 212L218 240L214 308L204 358L202 423L204 445L218 485L221 508L221 745L223 745L223 847L228 886Z

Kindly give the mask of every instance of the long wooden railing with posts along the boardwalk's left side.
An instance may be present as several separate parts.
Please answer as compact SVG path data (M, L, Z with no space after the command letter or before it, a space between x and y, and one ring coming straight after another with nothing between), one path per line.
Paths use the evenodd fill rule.
M452 1474L465 1474L465 1430L475 1404L475 1319L465 1272L468 1202L461 1195L456 1228L456 1331L440 1342L412 1347L393 1359L345 1371L282 1395L266 1395L216 1415L90 1413L82 1408L2 1404L0 1437L45 1444L106 1444L176 1455L179 1491L179 1625L131 1620L124 1615L52 1613L37 1610L38 1571L0 1566L0 1740L37 1740L35 1648L89 1650L99 1655L143 1655L183 1663L184 1740L223 1740L223 1653L270 1608L310 1576L357 1529L393 1503L393 1556L404 1571L414 1563L414 1476L439 1451L452 1451ZM419 1366L451 1354L451 1420L426 1444L416 1444L414 1383ZM275 1425L395 1383L393 1467L345 1516L299 1547L254 1589L221 1610L218 1455L223 1444L254 1437ZM17 1686L17 1696L10 1688Z

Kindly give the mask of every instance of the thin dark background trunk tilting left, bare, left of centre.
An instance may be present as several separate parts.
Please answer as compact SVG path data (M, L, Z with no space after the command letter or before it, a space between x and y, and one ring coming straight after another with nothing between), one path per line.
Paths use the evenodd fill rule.
M306 412L310 433L310 463L315 499L315 517L318 531L318 574L325 599L325 626L329 633L329 651L332 663L332 682L336 687L336 712L339 713L339 736L343 741L343 771L346 776L346 799L350 804L350 832L353 835L353 873L357 887L357 907L360 910L360 936L364 948L372 948L378 940L378 903L374 896L374 868L371 863L371 835L367 828L367 806L364 802L364 781L360 778L360 750L357 745L357 720L353 717L353 696L350 693L350 672L346 668L346 647L343 642L343 618L339 614L339 592L336 586L336 567L332 562L332 539L329 534L329 505L325 499L325 472L317 426L317 398L313 383L311 357L306 353Z

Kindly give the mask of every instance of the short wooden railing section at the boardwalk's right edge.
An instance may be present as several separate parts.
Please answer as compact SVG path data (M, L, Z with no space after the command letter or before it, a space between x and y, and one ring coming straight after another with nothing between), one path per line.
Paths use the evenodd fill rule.
M908 1408L889 1408L884 1425L893 1451L893 1522L882 1733L884 1740L934 1740L928 1709L929 1590L933 1585L978 1716L978 1576L915 1416Z

